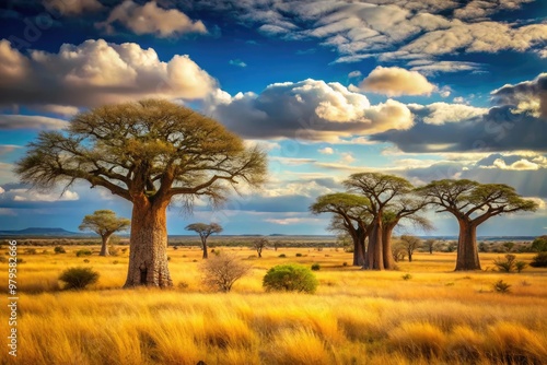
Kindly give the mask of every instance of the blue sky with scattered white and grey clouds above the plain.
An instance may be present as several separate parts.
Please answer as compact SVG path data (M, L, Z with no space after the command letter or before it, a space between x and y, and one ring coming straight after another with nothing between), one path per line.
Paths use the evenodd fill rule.
M131 205L82 181L28 189L25 146L79 111L161 97L268 151L268 182L219 210L167 212L170 234L328 234L309 207L351 174L415 186L513 186L535 213L478 235L547 234L547 2L543 0L8 0L0 8L0 231L78 231ZM450 214L423 233L457 235Z

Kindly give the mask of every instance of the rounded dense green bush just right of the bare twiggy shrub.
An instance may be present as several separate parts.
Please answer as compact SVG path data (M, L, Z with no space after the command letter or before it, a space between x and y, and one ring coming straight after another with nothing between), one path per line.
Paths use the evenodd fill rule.
M263 280L269 291L315 293L317 279L306 267L300 264L278 264L268 270Z

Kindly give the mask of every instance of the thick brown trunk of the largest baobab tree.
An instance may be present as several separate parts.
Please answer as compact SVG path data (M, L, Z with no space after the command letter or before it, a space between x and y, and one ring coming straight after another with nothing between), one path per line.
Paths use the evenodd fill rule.
M166 202L133 202L129 270L124 287L173 286L167 266L166 208Z

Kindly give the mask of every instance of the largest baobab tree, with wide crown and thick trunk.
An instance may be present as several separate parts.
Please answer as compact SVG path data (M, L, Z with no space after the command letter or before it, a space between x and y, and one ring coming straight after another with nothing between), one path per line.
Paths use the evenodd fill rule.
M266 154L216 120L177 104L149 99L77 115L63 131L42 132L18 162L23 182L38 188L86 180L132 203L125 287L172 286L166 208L178 197L213 204L237 182L257 187Z

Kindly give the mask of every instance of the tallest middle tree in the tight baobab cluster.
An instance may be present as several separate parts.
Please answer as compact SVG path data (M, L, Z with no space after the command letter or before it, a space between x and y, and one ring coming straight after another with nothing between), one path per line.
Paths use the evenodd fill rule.
M360 192L369 200L365 210L371 214L372 222L369 229L366 261L363 268L383 270L385 268L384 256L392 255L391 248L388 251L383 249L384 212L394 199L407 195L414 187L401 177L380 173L353 174L344 181L344 185L350 191Z

